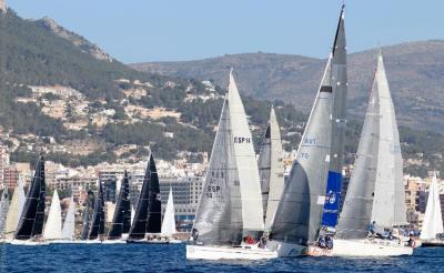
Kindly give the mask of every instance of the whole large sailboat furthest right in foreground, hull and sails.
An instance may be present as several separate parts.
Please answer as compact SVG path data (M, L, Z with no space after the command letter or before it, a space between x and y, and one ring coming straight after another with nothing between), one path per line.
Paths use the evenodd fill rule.
M377 57L372 92L355 169L352 173L339 225L330 250L313 246L311 255L395 256L411 255L401 235L380 235L406 224L403 165L395 111L382 54ZM374 234L369 234L372 223ZM377 226L377 228L376 228ZM389 233L387 233L389 235ZM389 235L390 237L391 235Z

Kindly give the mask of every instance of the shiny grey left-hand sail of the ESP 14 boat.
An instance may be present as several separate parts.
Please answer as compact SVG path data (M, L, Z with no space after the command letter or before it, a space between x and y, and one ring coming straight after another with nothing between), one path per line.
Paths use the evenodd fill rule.
M232 143L229 101L225 98L193 232L212 245L242 240L242 203Z

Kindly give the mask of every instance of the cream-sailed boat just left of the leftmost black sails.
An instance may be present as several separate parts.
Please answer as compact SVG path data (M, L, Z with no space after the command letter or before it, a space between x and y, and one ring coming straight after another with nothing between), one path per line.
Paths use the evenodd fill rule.
M18 181L18 185L12 194L12 200L9 205L9 211L6 220L4 240L11 242L17 232L19 225L20 215L23 211L24 202L27 196L24 195L23 185L21 180Z

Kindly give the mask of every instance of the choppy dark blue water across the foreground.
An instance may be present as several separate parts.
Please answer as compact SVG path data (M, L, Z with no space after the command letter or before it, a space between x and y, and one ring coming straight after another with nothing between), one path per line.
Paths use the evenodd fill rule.
M189 262L182 245L0 245L0 272L444 272L443 249L383 259Z

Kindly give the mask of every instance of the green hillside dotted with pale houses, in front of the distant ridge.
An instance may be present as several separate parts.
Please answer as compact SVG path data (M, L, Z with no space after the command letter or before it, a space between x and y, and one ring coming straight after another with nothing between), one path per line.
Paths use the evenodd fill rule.
M198 161L202 152L211 152L223 88L192 78L138 72L112 58L98 59L91 53L97 50L50 19L23 20L12 10L0 14L0 125L12 160L33 161L43 151L49 160L72 166L131 162L147 155L148 145L158 159L167 160ZM228 77L228 71L219 73ZM62 85L81 95L38 93L32 85L51 90ZM243 99L258 149L271 103ZM59 115L57 104L62 109ZM273 104L284 148L294 150L306 115L293 104L279 100ZM140 112L132 113L134 109ZM164 115L155 117L155 111ZM360 130L361 121L349 122L349 163L354 160ZM404 158L425 162L407 166L408 171L423 174L431 168L443 169L442 134L403 128L401 138ZM85 146L90 150L78 151Z

